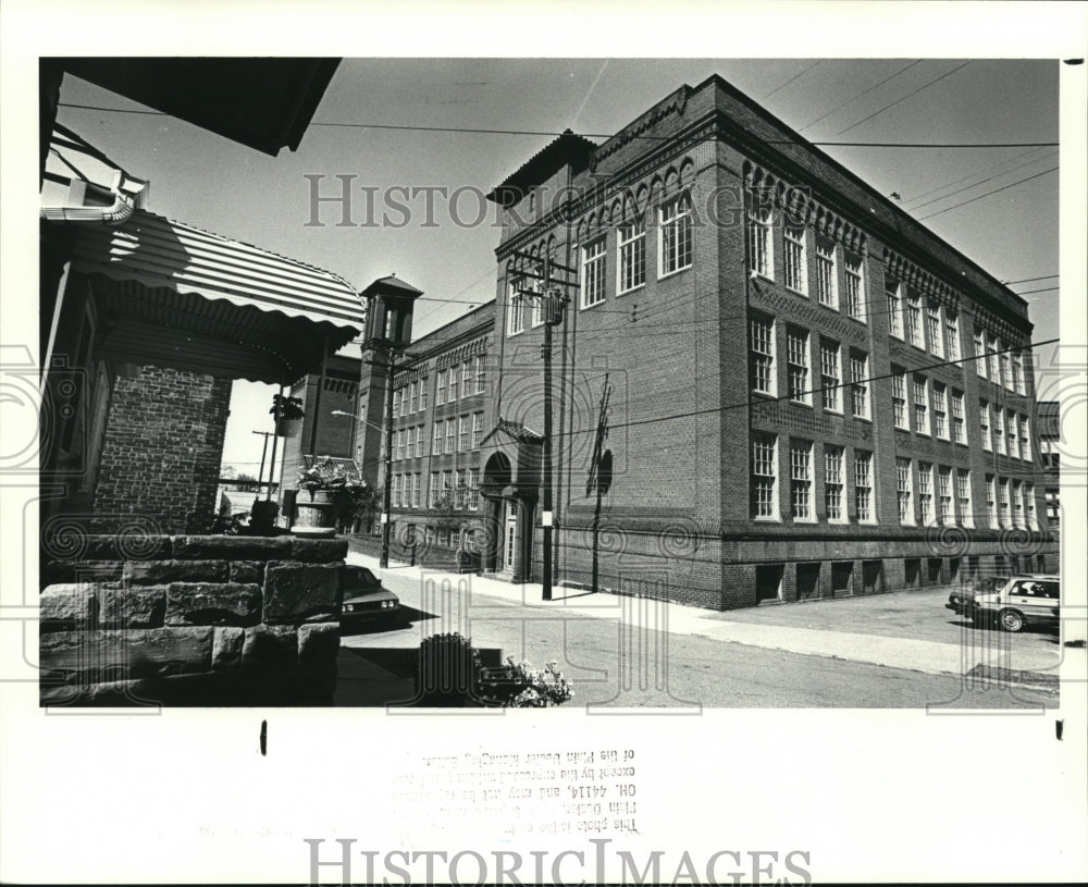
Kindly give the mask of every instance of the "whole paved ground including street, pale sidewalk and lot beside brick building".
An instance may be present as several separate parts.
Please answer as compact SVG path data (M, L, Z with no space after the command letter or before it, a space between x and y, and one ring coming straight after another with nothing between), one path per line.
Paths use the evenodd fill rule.
M351 554L395 591L406 624L342 638L339 705L413 693L422 638L460 631L485 662L560 663L573 704L610 707L1023 707L1058 702L1049 632L976 629L947 590L713 613L662 602L423 572ZM564 596L569 595L569 596ZM1084 651L1072 651L1083 656Z

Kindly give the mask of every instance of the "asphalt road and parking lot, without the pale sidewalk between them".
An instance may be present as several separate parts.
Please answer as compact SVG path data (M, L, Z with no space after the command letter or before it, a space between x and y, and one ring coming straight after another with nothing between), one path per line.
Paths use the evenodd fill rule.
M613 707L1001 709L1054 706L1047 687L1010 686L984 676L934 675L829 656L771 650L696 635L641 629L615 618L556 613L486 598L471 617L455 593L422 600L420 583L390 570L385 584L405 606L400 627L342 638L337 705L405 704L413 694L416 649L435 631L460 630L485 662L505 656L534 666L557 660L573 682L571 705ZM913 637L960 643L963 620L943 608L945 592L731 611L722 619ZM1016 643L1053 644L1040 632ZM1053 648L1052 648L1053 649Z

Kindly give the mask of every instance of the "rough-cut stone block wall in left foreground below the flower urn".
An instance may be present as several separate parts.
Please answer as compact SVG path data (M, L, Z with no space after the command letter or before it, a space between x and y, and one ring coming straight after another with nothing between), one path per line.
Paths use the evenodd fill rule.
M92 535L44 559L42 705L327 705L347 542Z

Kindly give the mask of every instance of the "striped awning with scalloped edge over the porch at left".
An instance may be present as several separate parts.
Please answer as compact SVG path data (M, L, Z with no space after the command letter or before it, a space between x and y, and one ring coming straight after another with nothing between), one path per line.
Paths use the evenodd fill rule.
M113 359L289 383L363 329L343 278L143 210L81 225L72 272L112 318Z

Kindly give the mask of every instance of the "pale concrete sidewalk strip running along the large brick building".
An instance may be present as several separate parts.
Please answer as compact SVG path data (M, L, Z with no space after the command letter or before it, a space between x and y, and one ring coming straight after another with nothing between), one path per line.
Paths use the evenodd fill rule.
M396 576L409 581L424 577L441 588L444 581L456 590L468 591L466 609L471 618L494 618L496 608L511 605L528 608L531 618L565 618L569 616L622 619L628 630L659 630L673 635L690 635L747 644L769 650L782 650L828 658L885 665L935 675L1012 675L1018 682L1044 683L1058 687L1061 649L1013 650L1010 638L1001 631L974 632L964 636L973 643L938 643L934 641L863 635L829 629L800 628L789 625L730 621L715 611L681 604L629 598L605 592L556 588L551 602L541 600L541 587L535 583L514 584L473 575L438 572L393 562L382 570L378 559L351 552L348 562L370 567L383 576ZM881 595L883 596L883 595ZM855 599L856 600L856 599ZM793 605L784 605L790 607ZM804 604L800 604L804 606ZM763 611L761 611L763 612ZM1081 655L1084 651L1078 652Z

